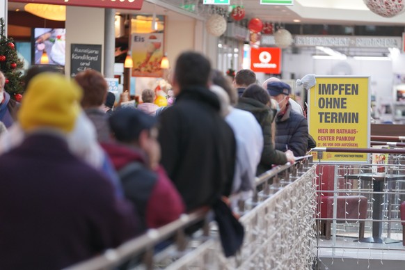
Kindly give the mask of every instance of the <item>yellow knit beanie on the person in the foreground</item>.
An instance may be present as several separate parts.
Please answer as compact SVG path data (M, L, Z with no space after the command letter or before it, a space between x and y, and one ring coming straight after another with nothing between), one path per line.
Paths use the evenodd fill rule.
M82 90L62 74L44 72L35 76L26 89L18 120L26 131L51 127L71 132L79 115Z

